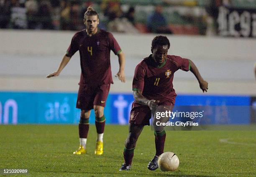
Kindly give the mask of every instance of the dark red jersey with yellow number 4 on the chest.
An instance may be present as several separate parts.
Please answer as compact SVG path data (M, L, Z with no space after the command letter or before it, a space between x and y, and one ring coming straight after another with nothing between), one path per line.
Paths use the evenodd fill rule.
M111 33L100 29L92 36L87 35L85 30L77 32L72 38L66 56L72 57L78 50L82 70L79 84L113 83L110 50L118 55L121 49Z

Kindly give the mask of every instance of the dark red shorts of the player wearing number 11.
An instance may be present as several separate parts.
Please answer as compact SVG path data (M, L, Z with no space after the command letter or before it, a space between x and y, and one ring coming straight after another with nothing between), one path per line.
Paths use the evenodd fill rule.
M163 101L158 104L159 106L170 106L173 108L171 101ZM150 125L151 110L148 106L138 104L133 101L129 123L136 125Z

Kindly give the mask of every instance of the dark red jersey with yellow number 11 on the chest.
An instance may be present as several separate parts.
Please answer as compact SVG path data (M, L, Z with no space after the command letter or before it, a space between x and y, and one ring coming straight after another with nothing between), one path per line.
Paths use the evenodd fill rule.
M179 69L189 71L189 60L179 56L167 55L166 61L160 67L156 67L152 55L150 55L136 66L133 77L133 91L142 91L142 95L147 99L161 102L172 101L174 104L177 94L172 81L174 73Z

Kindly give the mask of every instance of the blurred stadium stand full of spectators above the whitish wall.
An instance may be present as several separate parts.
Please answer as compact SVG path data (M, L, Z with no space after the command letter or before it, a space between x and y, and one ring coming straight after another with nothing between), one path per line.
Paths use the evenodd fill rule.
M213 34L217 33L216 12L219 6L256 9L256 0L1 0L0 28L80 30L83 28L83 14L89 5L99 12L100 28L105 30L149 33L147 18L155 5L162 5L172 33L206 35L209 28L214 31ZM120 20L125 18L131 7L134 10L133 22ZM214 21L208 23L211 21L209 18ZM109 25L114 22L125 24L121 29L127 26L126 23L131 28L116 30L113 24Z

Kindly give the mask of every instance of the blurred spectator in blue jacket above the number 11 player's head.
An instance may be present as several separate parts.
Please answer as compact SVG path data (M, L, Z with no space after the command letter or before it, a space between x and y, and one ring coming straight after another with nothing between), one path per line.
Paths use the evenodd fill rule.
M162 14L162 6L156 5L155 11L148 16L147 27L151 33L169 33L172 31L169 29L166 19Z

